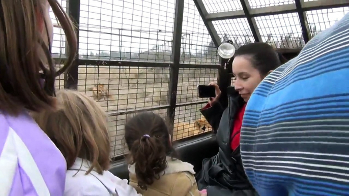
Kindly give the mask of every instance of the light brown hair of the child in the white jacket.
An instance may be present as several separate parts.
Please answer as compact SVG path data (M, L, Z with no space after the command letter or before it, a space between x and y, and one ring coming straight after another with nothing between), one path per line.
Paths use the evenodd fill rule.
M77 157L91 161L91 170L102 173L110 163L107 115L82 92L57 92L57 109L33 113L33 117L66 158L68 169Z

